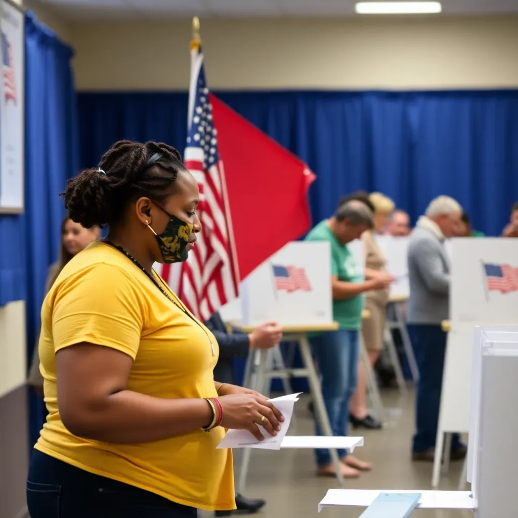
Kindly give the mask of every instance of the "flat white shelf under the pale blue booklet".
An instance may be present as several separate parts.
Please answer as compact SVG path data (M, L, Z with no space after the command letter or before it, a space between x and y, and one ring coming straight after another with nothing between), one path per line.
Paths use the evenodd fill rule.
M369 507L380 493L421 493L416 509L474 509L471 491L330 489L319 503L319 512L323 507Z

